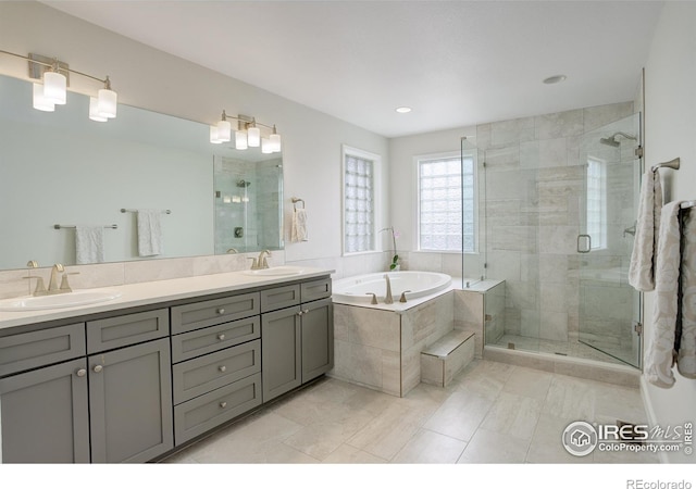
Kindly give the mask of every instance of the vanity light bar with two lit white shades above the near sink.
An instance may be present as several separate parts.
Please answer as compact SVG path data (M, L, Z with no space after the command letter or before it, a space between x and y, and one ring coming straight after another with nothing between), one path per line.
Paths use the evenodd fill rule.
M21 58L29 62L29 77L41 79L33 86L34 109L44 112L53 112L55 105L64 105L67 101L67 76L71 73L95 79L103 84L103 88L97 92L97 97L89 98L89 118L98 122L105 122L116 116L117 95L111 89L111 80L107 76L104 79L86 73L71 70L66 63L59 62L55 58L46 58L40 54L29 53L28 57L14 52L0 50L0 53Z

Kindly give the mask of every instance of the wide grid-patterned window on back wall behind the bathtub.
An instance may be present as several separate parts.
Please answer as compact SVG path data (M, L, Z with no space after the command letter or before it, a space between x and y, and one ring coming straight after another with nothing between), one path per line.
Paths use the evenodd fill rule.
M421 156L418 239L422 251L476 251L476 165L473 155Z

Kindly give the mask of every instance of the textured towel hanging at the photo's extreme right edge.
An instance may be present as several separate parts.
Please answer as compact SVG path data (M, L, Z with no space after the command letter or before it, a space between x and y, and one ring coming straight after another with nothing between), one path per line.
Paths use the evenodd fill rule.
M681 313L676 368L684 377L696 378L696 209L682 210Z

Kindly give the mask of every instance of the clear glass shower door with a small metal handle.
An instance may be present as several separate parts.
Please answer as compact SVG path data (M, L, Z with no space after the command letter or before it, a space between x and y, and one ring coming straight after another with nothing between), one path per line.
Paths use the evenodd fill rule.
M641 181L639 114L584 135L580 202L579 340L641 366L641 293L629 285Z

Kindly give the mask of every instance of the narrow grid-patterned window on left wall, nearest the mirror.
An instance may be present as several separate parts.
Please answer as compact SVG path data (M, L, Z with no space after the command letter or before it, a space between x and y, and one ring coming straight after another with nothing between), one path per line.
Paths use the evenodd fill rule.
M344 147L344 254L375 251L375 187L381 159Z

